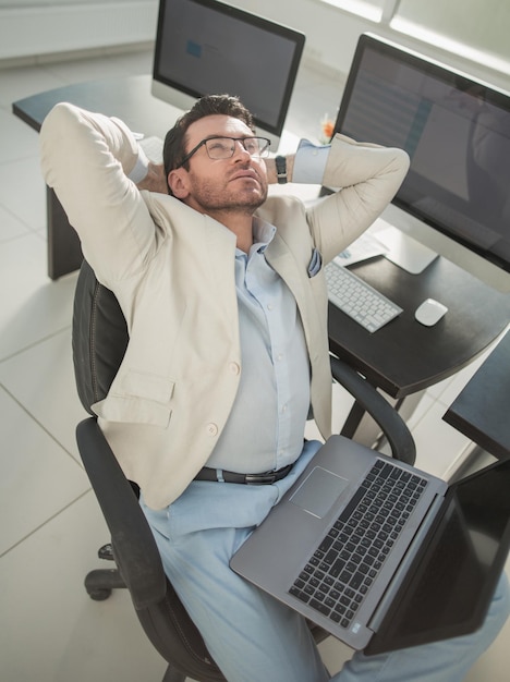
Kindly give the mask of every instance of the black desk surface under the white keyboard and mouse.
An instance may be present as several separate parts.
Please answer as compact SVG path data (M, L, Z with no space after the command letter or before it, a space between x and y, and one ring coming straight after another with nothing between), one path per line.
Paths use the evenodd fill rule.
M510 295L494 291L441 257L421 275L410 275L386 258L353 270L404 312L369 334L330 305L331 351L394 398L452 376L510 321ZM434 327L414 319L414 310L428 297L448 306Z

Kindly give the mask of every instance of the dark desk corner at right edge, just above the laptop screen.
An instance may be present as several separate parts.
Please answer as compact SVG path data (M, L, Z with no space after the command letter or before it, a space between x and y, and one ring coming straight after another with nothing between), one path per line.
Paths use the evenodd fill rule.
M481 448L510 456L510 331L442 417Z

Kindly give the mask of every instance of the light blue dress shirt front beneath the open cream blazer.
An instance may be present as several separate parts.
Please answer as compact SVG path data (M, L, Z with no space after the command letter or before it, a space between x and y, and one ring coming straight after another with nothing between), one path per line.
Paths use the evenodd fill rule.
M265 258L275 232L255 218L250 253L235 252L241 379L210 467L266 472L295 462L303 449L308 354L295 300Z

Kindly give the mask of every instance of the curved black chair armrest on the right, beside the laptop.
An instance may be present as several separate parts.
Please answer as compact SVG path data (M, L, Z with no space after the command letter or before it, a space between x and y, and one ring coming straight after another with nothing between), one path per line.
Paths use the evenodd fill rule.
M379 425L391 447L396 460L414 464L416 444L405 422L372 383L338 357L331 356L331 374L338 383L351 393L355 401Z

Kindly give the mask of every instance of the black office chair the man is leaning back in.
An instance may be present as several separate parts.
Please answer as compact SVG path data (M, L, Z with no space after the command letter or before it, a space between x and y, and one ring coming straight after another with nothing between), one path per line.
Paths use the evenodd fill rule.
M111 534L99 556L114 569L92 571L85 587L93 599L126 587L136 614L153 645L168 661L163 682L224 681L201 634L168 581L150 527L138 504L138 488L127 480L97 425L90 405L102 399L127 344L124 317L111 291L84 261L74 299L73 360L80 399L93 416L76 428L80 454ZM372 414L386 435L394 458L414 462L415 447L399 414L360 375L332 357L333 377ZM316 642L327 633L309 623Z

